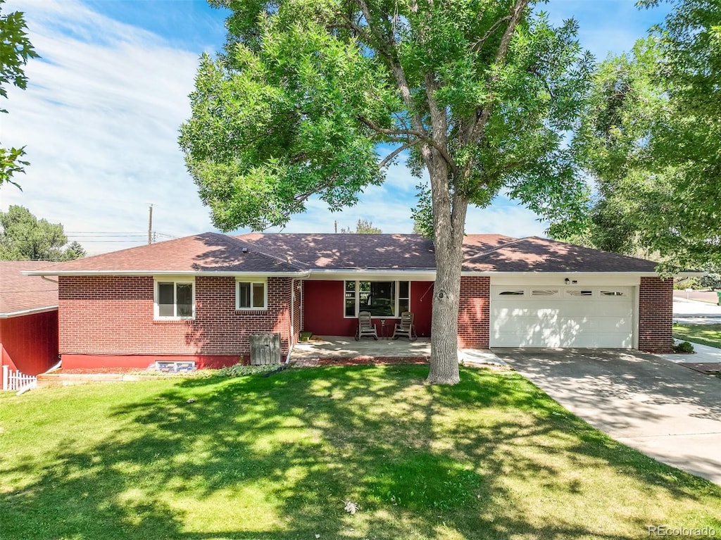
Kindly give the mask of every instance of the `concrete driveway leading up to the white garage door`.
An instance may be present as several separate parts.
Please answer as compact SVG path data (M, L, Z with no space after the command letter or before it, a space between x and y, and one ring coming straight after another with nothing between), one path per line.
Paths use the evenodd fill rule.
M616 441L721 485L721 379L637 351L493 352Z

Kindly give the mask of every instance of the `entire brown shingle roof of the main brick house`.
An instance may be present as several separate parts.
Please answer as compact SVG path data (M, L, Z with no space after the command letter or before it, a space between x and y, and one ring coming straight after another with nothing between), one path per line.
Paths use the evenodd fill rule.
M464 238L466 274L655 273L655 262L531 236ZM63 262L35 275L275 274L416 272L432 278L433 243L417 234L204 233Z

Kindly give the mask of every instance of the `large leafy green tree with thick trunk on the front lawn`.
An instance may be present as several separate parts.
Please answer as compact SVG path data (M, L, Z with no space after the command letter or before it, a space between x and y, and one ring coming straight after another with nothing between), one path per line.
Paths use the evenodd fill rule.
M200 60L180 145L214 223L282 225L312 195L340 210L407 151L430 177L428 379L457 382L468 205L504 190L549 221L583 218L567 136L593 61L576 23L553 27L532 0L211 4L231 9L228 40Z

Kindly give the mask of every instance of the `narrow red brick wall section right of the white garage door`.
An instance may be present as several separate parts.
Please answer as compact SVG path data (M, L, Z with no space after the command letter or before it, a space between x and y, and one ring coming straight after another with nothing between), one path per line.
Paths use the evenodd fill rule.
M671 352L673 280L641 278L638 308L638 348L650 353Z

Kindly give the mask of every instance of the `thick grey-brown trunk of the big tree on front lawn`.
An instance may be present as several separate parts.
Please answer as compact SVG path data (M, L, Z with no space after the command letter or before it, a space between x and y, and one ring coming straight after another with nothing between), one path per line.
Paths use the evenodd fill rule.
M430 384L456 384L458 368L458 309L461 290L461 260L467 202L452 208L448 189L448 167L435 154L427 161L433 201L435 286L430 327ZM454 215L455 214L455 215Z

